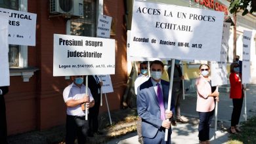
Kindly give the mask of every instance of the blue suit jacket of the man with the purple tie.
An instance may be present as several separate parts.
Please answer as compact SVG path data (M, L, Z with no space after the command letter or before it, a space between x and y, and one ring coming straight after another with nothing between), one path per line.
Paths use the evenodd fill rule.
M167 109L169 82L161 80L163 91L163 102ZM171 98L171 111L174 113L175 101ZM142 118L142 137L153 138L161 128L163 122L160 118L160 106L151 78L142 83L137 95L137 111L139 117ZM171 129L169 129L171 134Z

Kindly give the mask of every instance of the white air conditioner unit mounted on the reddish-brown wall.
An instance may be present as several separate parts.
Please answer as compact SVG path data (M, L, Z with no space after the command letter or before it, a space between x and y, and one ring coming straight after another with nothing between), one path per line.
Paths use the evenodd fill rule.
M83 0L50 0L50 13L83 16Z

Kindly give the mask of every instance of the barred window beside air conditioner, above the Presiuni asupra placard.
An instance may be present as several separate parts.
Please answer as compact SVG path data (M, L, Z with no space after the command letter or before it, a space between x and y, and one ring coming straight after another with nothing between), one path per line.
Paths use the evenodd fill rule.
M96 3L94 0L83 1L83 18L70 20L70 35L95 37Z

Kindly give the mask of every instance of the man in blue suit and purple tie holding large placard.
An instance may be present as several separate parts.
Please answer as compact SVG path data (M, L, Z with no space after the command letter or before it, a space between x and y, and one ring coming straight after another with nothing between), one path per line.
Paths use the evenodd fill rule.
M171 111L167 109L169 82L161 80L163 63L155 60L150 64L151 77L138 89L137 111L142 118L143 143L171 143L171 122L174 111L174 99L171 99ZM165 128L169 129L165 141Z

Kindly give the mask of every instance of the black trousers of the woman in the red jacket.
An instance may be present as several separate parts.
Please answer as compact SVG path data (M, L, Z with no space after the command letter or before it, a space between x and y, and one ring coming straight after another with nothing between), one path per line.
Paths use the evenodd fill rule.
M233 111L231 116L231 126L236 126L239 123L244 98L232 99L232 101L233 101Z

